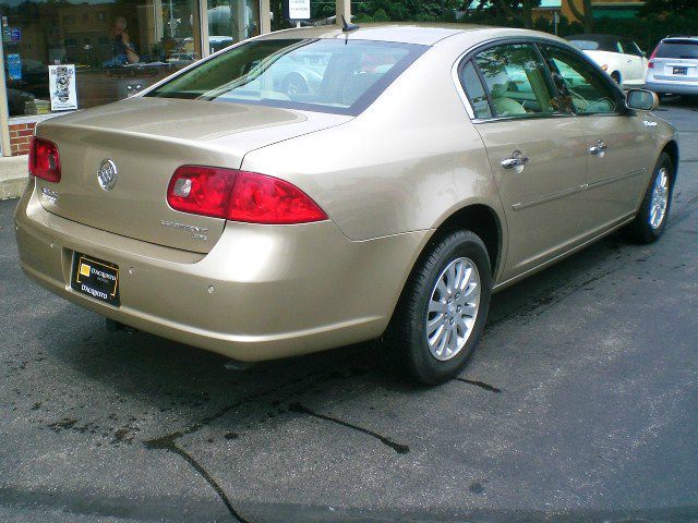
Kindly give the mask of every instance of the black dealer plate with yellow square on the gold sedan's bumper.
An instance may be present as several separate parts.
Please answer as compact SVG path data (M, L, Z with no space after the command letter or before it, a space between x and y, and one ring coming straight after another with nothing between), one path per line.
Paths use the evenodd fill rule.
M119 266L111 262L74 253L70 287L98 302L108 303L116 307L121 305Z

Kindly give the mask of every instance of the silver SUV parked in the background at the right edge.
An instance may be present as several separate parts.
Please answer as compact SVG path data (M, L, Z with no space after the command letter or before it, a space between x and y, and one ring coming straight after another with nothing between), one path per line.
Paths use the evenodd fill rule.
M698 95L698 36L660 41L647 65L645 84L659 94Z

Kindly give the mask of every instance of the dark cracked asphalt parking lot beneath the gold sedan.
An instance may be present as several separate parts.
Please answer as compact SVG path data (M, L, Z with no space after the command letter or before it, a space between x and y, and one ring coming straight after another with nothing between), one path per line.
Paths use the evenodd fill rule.
M0 521L698 521L698 112L669 228L497 294L442 387L371 344L245 372L31 282L0 202Z

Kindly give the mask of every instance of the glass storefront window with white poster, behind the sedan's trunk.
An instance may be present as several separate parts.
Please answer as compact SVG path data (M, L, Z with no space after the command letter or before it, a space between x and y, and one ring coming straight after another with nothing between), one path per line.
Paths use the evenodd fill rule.
M196 0L4 0L10 117L49 113L58 99L116 101L197 60L196 10ZM50 68L49 82L52 65L68 66Z

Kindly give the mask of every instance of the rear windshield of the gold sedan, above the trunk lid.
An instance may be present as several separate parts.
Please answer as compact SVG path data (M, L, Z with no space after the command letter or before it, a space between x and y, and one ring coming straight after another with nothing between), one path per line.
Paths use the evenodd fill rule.
M426 49L345 38L252 40L145 96L356 115Z

